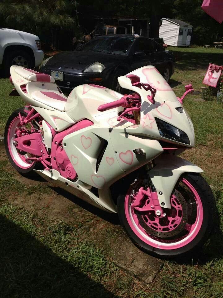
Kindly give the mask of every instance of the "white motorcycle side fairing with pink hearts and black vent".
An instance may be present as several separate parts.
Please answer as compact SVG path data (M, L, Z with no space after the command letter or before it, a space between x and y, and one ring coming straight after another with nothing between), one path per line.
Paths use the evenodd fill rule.
M125 120L109 129L109 116L104 118L104 127L94 124L63 139L79 180L99 189L109 187L163 152L158 141L125 134L129 125ZM133 152L138 148L145 151L143 156Z

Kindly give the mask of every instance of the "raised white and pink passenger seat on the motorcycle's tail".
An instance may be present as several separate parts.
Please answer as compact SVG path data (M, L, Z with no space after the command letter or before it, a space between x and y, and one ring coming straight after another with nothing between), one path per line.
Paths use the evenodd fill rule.
M15 72L24 79L32 82L55 83L55 79L51 75L46 75L25 67L16 67Z

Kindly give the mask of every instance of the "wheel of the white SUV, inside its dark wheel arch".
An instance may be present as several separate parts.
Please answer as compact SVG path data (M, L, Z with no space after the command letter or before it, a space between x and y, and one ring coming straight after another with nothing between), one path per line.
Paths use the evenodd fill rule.
M6 54L3 61L3 69L6 76L10 75L11 65L33 68L34 63L31 56L25 51L11 51Z

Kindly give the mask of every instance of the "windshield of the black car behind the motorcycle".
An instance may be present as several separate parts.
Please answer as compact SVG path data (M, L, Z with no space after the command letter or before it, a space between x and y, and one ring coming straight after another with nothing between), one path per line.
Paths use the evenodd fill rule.
M133 41L133 38L125 37L97 37L85 43L78 50L126 55Z

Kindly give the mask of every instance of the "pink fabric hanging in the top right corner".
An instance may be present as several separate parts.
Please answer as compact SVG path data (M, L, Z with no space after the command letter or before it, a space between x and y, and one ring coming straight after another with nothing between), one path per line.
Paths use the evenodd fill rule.
M218 21L223 21L223 1L222 0L204 0L201 6L209 16Z

